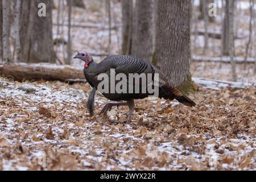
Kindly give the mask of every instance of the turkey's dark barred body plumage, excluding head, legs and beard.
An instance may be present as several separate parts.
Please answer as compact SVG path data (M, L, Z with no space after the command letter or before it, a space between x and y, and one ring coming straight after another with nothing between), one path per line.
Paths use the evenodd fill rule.
M115 73L123 73L127 77L127 91L129 89L129 86L133 85L133 88L138 88L138 85L135 85L134 82L129 82L129 73L138 73L140 75L141 73L152 74L151 80L148 80L147 83L154 82L154 80L159 81L159 98L169 99L173 100L174 98L183 97L183 94L179 92L179 90L173 88L167 78L163 75L161 71L159 71L158 68L154 67L147 61L144 61L142 59L139 59L137 57L128 56L128 55L117 55L117 56L109 56L106 57L106 59L102 60L101 63L95 63L92 61L89 64L88 68L84 68L84 75L86 80L89 82L89 84L92 87L98 86L100 84L101 80L97 80L97 76L101 73L106 73L109 76L109 92L108 93L102 93L106 98L112 101L129 101L131 99L141 99L146 98L152 94L146 92L141 93L142 90L142 82L140 81L139 84L139 93L110 93L110 69L114 69ZM158 73L159 77L155 77L154 73ZM115 81L114 86L117 85L119 81ZM113 86L113 85L112 85ZM135 90L133 90L135 91ZM186 97L187 98L187 97ZM180 99L182 101L182 99ZM188 102L191 102L190 105L195 105L195 103L191 100ZM183 102L181 102L183 103ZM184 103L183 103L184 104Z

